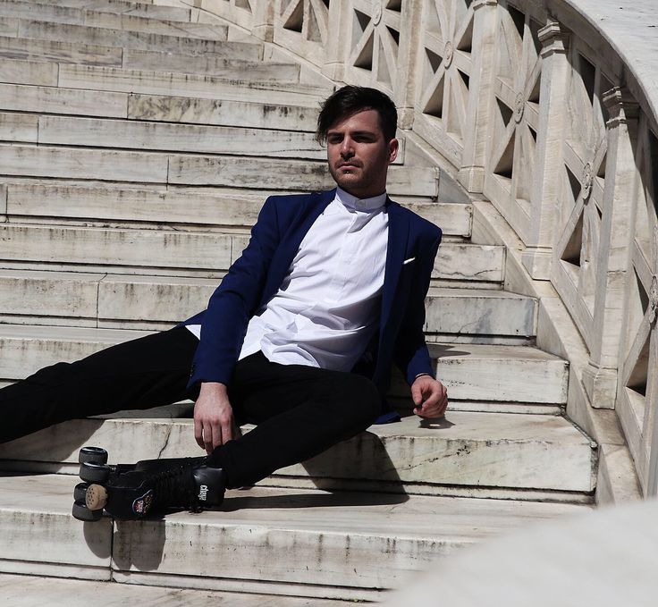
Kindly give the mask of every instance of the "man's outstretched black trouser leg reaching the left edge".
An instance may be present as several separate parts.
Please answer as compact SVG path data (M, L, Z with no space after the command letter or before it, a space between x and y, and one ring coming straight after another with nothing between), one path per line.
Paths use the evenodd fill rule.
M197 345L178 327L45 367L0 390L0 443L68 419L194 397L186 385Z

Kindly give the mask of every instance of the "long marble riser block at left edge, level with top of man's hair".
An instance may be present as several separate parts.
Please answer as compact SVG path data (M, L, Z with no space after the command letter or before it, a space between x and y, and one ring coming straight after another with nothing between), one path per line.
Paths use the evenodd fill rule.
M126 93L0 84L3 110L126 118L127 99Z

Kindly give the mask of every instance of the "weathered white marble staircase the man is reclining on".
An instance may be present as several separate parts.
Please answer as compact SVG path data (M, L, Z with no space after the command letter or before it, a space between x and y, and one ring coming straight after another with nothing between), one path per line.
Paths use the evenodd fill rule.
M313 131L333 86L174 0L0 0L0 383L203 308L268 194L331 186ZM502 288L505 249L470 240L468 198L401 143L389 191L444 232L426 335L445 420L373 426L222 510L95 525L70 516L80 446L196 453L190 403L46 429L0 446L0 571L369 601L591 507L596 445L562 416L569 368L534 346L536 301ZM391 398L409 411L399 378Z

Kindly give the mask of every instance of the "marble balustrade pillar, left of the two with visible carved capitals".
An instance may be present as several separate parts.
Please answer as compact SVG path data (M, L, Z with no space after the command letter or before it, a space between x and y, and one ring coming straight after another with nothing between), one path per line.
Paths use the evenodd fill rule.
M542 43L542 82L535 180L530 191L530 223L525 235L523 266L535 280L549 280L562 170L564 99L569 79L569 36L557 22L539 30Z

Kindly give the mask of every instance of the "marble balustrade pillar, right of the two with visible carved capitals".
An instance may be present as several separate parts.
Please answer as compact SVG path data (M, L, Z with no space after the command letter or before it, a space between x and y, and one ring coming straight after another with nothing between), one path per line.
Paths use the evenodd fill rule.
M603 96L610 119L603 190L603 217L596 268L594 331L589 339L590 359L583 384L592 406L614 409L617 392L621 327L628 251L633 234L633 191L637 166L633 141L637 140L638 105L618 87ZM587 183L583 183L587 187Z

